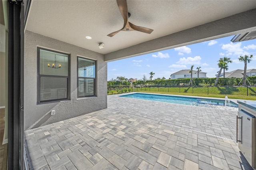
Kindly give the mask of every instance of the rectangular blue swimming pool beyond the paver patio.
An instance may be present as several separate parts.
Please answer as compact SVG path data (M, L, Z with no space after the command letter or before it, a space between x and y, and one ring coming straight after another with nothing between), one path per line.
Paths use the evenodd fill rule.
M234 110L234 111L238 110L238 104L232 101L225 102L225 100L218 100L218 99L177 97L177 96L170 96L170 95L155 95L155 94L143 94L143 93L121 95L120 97L128 97L132 99L143 99L143 100L151 100L151 101L161 101L161 102L176 103L176 104L190 105L190 106L210 107L210 108L218 108L218 109ZM226 106L225 106L225 103L226 103Z

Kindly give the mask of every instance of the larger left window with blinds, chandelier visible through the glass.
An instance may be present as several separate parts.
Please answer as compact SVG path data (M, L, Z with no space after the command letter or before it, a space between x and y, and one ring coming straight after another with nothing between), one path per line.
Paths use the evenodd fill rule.
M69 99L70 55L38 47L38 103Z

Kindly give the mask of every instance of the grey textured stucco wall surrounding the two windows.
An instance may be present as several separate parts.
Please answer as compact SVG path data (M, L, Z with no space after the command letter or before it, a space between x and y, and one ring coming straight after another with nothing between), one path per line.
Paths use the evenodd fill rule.
M38 122L48 125L107 108L107 63L104 55L28 30L24 39L24 130L38 125ZM70 101L37 105L38 46L71 54ZM97 60L96 97L77 99L77 56ZM53 109L56 114L49 116Z

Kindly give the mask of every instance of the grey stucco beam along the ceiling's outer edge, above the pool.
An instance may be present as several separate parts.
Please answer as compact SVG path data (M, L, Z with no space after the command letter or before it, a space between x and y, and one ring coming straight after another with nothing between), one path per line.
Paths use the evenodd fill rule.
M256 30L256 8L105 55L114 61Z

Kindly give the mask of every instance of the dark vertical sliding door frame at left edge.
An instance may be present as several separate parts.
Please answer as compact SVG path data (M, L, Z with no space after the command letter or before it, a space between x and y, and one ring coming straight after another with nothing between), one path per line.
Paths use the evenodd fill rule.
M8 169L24 169L24 4L8 0Z

